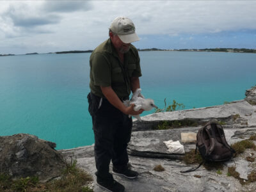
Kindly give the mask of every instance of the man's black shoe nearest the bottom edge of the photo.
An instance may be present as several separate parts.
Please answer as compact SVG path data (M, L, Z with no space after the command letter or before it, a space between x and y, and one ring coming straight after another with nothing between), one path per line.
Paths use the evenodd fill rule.
M99 180L97 179L97 185L100 188L106 189L110 192L124 192L124 186L116 180Z

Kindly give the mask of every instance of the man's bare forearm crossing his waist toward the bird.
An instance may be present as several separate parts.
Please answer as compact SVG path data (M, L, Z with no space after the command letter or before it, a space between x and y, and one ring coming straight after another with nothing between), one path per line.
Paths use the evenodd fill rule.
M103 95L108 99L108 101L117 109L122 111L126 115L139 115L143 112L143 109L139 111L134 111L134 104L126 107L122 101L117 97L116 93L113 91L111 86L100 86Z

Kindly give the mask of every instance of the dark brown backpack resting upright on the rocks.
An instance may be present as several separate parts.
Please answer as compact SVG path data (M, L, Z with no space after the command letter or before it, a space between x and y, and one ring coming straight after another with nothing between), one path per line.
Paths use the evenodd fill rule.
M196 134L196 150L199 150L204 161L197 168L182 173L193 172L205 162L227 161L236 154L236 151L228 145L223 127L217 122L209 122L200 128Z

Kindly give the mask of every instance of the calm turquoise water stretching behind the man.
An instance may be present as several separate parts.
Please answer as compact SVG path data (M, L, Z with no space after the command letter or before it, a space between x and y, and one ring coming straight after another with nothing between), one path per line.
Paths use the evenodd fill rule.
M0 135L35 134L57 143L57 149L94 143L86 99L89 57L0 57ZM185 109L240 100L256 84L256 54L155 51L140 52L140 57L143 95L160 108L164 98Z

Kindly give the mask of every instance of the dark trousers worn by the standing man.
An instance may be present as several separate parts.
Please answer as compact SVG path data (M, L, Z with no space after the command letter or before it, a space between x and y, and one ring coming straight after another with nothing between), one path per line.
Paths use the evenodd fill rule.
M116 168L127 166L129 161L127 144L131 140L132 118L112 106L107 99L102 99L99 108L100 97L89 93L87 98L95 136L95 174L97 179L113 179L109 173L110 161Z

